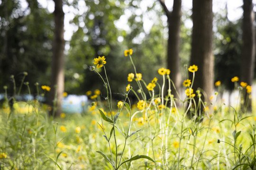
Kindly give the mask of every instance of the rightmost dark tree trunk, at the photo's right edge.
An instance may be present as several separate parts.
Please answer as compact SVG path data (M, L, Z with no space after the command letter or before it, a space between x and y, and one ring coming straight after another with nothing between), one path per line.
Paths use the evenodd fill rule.
M255 62L255 28L254 11L252 0L244 0L244 15L243 15L243 50L241 59L241 81L252 85L254 76L254 62ZM247 105L248 111L252 109L251 99L247 100L247 92L244 89L244 104ZM248 96L249 97L249 96ZM246 107L245 107L246 109Z

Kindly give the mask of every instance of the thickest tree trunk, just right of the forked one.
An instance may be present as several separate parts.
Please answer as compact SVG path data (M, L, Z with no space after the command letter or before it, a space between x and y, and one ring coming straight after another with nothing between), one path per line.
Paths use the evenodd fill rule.
M202 100L209 103L214 81L212 0L193 0L192 4L193 32L190 65L198 66L192 88L194 92L201 89Z

